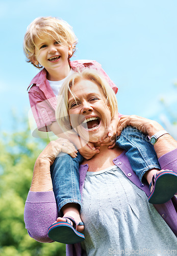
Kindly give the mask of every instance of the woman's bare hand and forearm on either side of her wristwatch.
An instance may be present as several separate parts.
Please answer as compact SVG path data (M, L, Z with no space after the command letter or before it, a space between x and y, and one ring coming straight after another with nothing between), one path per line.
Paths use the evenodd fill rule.
M162 125L154 120L150 120L144 117L139 117L136 115L131 116L121 116L118 123L118 135L126 126L136 127L141 132L147 134L149 137L153 136L159 131L164 130ZM164 154L173 151L177 148L177 141L174 140L169 134L165 134L161 136L156 144L154 145L154 149L156 151L157 157L160 158Z

